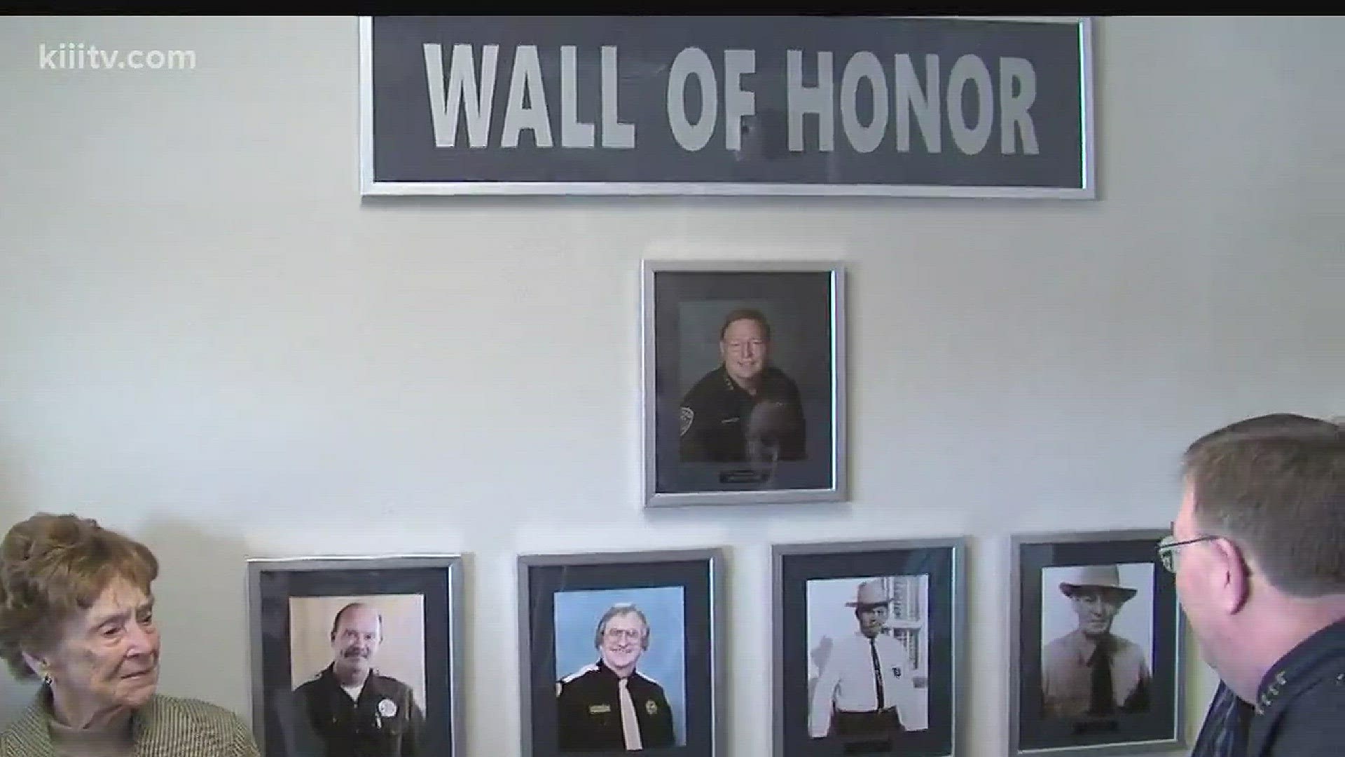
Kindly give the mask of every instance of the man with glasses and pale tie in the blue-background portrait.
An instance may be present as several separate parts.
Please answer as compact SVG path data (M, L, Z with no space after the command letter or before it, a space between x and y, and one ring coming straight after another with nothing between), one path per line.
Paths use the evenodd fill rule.
M633 605L613 605L597 622L599 660L555 684L561 752L675 746L663 687L635 669L650 648L650 624Z

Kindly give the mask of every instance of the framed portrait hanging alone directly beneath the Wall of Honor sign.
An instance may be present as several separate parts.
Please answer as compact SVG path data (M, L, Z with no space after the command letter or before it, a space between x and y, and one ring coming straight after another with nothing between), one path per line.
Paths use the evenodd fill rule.
M644 261L646 506L846 498L843 273Z

